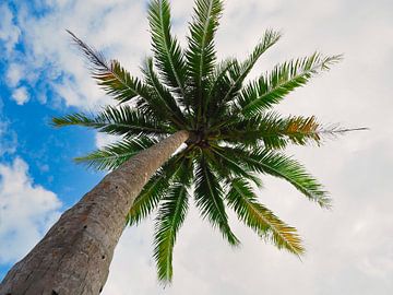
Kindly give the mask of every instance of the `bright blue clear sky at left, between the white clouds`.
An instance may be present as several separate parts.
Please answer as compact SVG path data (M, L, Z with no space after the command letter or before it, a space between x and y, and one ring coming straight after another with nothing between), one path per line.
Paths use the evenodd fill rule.
M1 7L9 8L12 13L16 13L19 9L17 3L13 1L2 3ZM50 10L47 11L45 7L41 9L29 7L28 13L32 17L45 17ZM15 22L16 20L13 20L13 23ZM24 62L26 55L29 54L24 38L24 32L21 31L12 52L1 56L0 72L9 72L11 64L14 64L10 63L11 56L12 62ZM7 52L7 46L5 42L0 42L1 51ZM95 148L93 132L79 128L55 129L50 126L52 117L75 111L76 108L67 106L48 85L48 80L52 79L46 74L48 70L50 70L50 64L41 67L34 82L26 81L23 73L16 83L10 83L10 79L2 75L0 80L0 130L2 130L0 132L0 163L11 166L16 158L26 163L28 166L26 174L31 177L32 184L39 184L46 190L55 192L61 200L61 206L57 210L62 211L96 184L100 175L72 163L73 157ZM60 73L55 81L60 81L63 75L67 73ZM10 98L19 88L26 90L26 102L17 103ZM43 95L46 96L45 102L40 98ZM25 196L26 199L31 197ZM38 223L36 224L38 226ZM38 228L38 231L44 234L44 228ZM5 237L2 236L2 238ZM23 241L19 240L19 243ZM0 262L2 261L1 256ZM13 262L0 264L0 278Z

